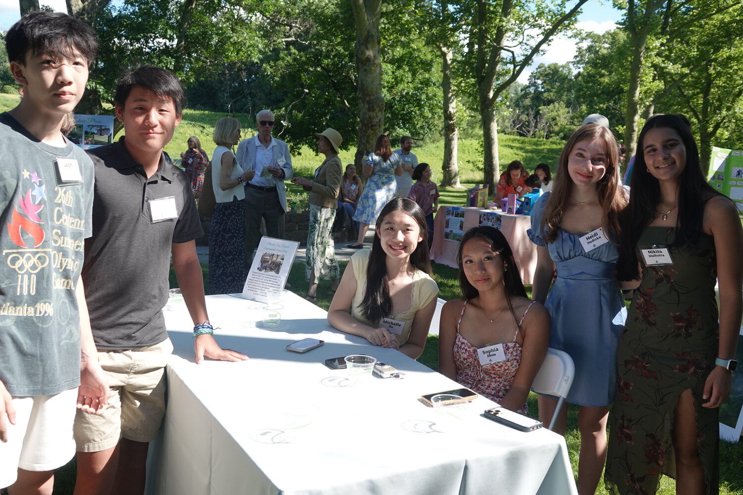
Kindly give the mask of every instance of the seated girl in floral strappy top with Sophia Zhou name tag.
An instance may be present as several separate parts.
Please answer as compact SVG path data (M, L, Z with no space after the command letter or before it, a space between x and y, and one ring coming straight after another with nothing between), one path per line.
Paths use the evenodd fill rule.
M531 384L547 355L549 313L526 297L513 253L498 229L467 231L457 261L464 297L441 309L439 373L525 414Z

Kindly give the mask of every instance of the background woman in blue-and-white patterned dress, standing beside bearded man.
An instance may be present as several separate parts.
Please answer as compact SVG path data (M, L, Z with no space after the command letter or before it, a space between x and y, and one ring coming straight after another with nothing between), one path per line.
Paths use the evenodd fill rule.
M366 181L354 214L354 220L360 224L359 237L355 244L348 244L348 247L363 248L369 224L377 222L379 213L398 191L395 176L400 177L403 174L402 164L400 157L392 153L389 138L385 134L377 137L374 153L364 159L364 175L369 177L369 180Z

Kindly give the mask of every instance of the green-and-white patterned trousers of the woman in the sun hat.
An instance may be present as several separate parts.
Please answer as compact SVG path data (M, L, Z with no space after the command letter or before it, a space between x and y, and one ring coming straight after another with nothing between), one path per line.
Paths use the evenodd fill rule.
M338 262L335 259L335 245L333 242L332 230L334 220L334 208L310 205L306 270L309 283L340 278L340 269L338 269ZM313 269L315 271L315 278L314 280L310 280Z

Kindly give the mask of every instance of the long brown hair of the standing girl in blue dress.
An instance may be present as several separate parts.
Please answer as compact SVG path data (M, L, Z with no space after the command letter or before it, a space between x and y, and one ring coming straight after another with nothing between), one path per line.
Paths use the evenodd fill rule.
M611 131L603 125L586 124L573 133L565 143L557 163L557 174L554 178L554 189L550 195L545 214L542 217L542 228L547 231L545 242L557 239L557 231L562 223L562 215L568 209L573 194L573 180L568 173L568 158L577 142L585 140L602 140L605 148L606 174L596 185L599 204L603 208L602 226L615 236L620 235L619 214L627 205L627 194L619 181L619 157L617 140Z

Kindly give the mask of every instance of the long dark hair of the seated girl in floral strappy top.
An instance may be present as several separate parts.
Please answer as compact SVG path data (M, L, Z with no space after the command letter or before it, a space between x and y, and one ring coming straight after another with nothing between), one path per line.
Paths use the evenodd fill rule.
M459 243L459 252L457 253L457 265L459 271L457 277L459 279L459 288L462 291L462 295L465 299L470 300L480 295L480 292L473 286L470 281L467 280L467 275L464 274L464 266L462 264L462 250L464 244L468 240L482 239L488 245L493 252L499 253L503 260L504 269L506 266L510 269L505 269L503 272L503 283L506 289L506 301L510 308L511 315L516 320L516 326L519 325L519 319L516 318L516 313L513 312L513 304L511 304L511 298L513 296L521 296L522 298L528 298L526 295L526 289L524 289L524 282L521 280L521 274L519 274L519 267L516 266L516 260L513 259L513 251L511 251L506 237L501 231L491 226L479 226L473 227L468 230L462 236L461 242Z

